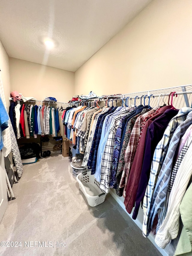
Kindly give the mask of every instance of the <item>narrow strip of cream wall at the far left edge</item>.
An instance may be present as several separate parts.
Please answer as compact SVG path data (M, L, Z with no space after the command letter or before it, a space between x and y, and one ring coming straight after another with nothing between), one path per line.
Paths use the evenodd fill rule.
M0 69L1 79L4 88L4 95L7 108L9 109L9 97L10 97L10 73L9 73L9 57L0 41Z

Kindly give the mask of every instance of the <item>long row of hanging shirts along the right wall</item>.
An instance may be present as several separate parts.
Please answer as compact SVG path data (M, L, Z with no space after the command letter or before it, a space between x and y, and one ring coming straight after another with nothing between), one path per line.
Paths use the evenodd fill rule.
M180 206L192 174L192 108L168 104L79 106L66 109L63 122L67 137L84 154L87 166L108 193L110 188L125 198L128 213L137 218L140 204L144 211L143 235L156 233L159 247L175 239L179 231ZM144 97L144 98L143 98ZM142 104L142 98L144 104ZM170 103L171 98L171 103ZM117 103L117 100L116 100ZM188 207L188 206L186 206Z

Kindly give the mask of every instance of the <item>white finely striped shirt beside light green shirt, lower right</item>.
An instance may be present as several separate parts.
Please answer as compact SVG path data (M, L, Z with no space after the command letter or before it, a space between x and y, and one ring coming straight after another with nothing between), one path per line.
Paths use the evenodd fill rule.
M178 235L180 216L179 206L192 175L191 154L192 144L190 144L190 147L187 150L187 153L185 154L183 161L177 171L177 175L169 197L167 215L155 237L155 242L161 248L165 248L170 240L175 239Z

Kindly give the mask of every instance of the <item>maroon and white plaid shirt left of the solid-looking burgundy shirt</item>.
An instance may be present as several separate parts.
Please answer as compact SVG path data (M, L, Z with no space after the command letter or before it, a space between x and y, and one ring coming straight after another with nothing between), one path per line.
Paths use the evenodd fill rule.
M124 166L121 181L120 181L120 184L119 184L119 188L125 187L124 192L123 192L124 197L125 197L125 191L126 191L126 185L127 185L129 170L130 170L131 165L132 165L133 160L134 160L135 152L136 152L136 149L137 149L137 143L138 143L140 133L141 133L141 125L146 119L149 119L155 113L155 111L157 109L158 109L158 107L154 107L149 112L139 116L137 118L135 124L134 124L133 130L131 132L131 136L130 136L130 139L129 139L128 146L125 150L125 166Z

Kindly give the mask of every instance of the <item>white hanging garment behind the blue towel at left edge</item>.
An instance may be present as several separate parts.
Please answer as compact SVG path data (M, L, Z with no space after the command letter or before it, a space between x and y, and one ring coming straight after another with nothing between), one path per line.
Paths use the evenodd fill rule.
M0 74L0 95L1 95L1 99L3 101L3 104L4 104L5 108L7 109L5 95L4 95L4 89L3 89L3 83L1 80L1 74ZM2 148L2 152L4 154L4 157L6 157L7 155L9 155L9 153L11 151L11 138L10 138L9 127L2 132L2 135L3 135L3 144L4 144L4 147Z

